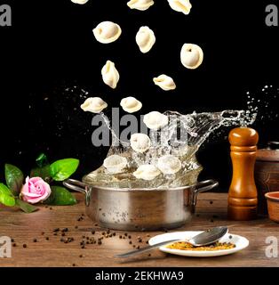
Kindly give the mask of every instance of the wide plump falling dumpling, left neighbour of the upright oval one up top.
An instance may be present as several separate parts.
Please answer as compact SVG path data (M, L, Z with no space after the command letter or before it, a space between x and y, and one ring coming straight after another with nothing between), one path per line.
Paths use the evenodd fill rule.
M120 37L122 30L116 23L106 20L93 29L94 37L102 44L110 44Z

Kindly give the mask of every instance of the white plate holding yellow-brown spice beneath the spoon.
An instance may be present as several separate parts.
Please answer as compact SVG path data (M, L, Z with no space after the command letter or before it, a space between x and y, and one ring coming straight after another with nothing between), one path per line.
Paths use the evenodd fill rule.
M151 238L148 242L150 245L154 245L155 243L163 242L164 240L187 240L194 237L196 234L201 232L168 232L156 235L155 237ZM229 239L229 236L232 238ZM171 253L172 255L178 256L195 256L195 257L210 257L210 256L226 256L233 254L243 248L247 248L249 245L249 240L243 238L240 235L227 233L222 239L219 240L220 242L232 242L235 244L235 248L230 249L220 249L220 250L211 250L211 251L198 251L198 250L181 250L181 249L171 249L166 248L166 246L160 247L159 249L166 253Z

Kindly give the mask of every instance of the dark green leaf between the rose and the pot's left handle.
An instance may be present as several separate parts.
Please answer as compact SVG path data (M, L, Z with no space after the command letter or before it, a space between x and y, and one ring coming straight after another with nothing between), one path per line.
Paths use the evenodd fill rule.
M48 199L44 200L44 204L55 206L75 205L76 198L66 188L52 186L52 194Z

